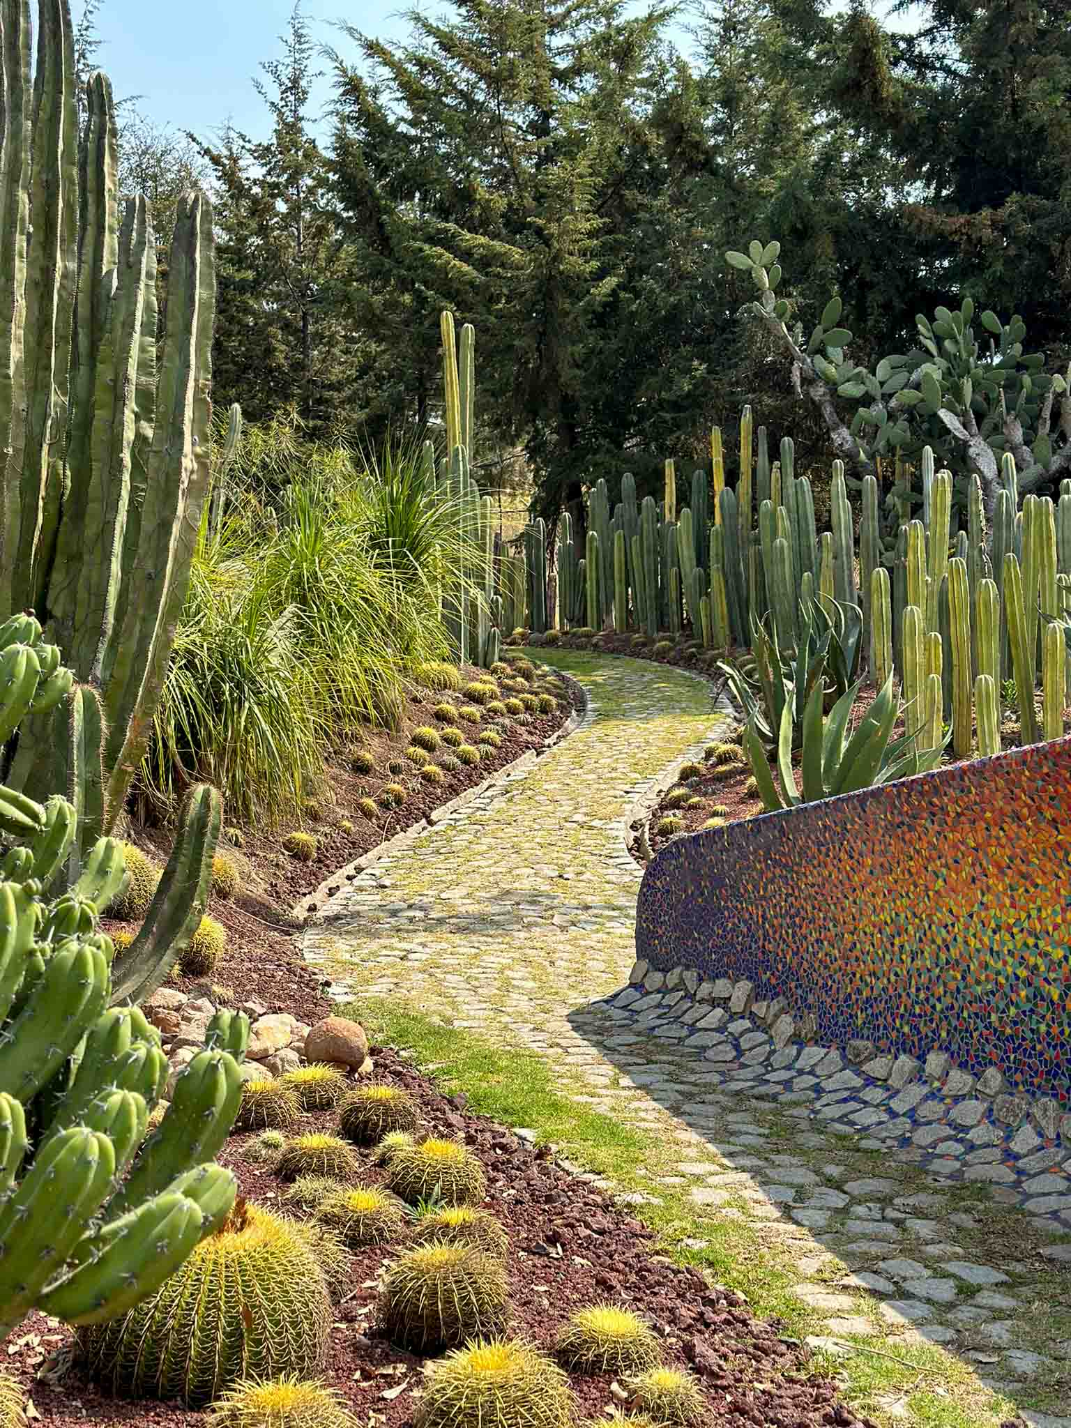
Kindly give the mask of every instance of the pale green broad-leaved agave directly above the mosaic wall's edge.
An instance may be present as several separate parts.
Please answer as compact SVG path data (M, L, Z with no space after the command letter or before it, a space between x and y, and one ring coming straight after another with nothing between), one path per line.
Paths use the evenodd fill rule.
M848 718L860 685L853 684L830 710L824 708L821 684L815 683L804 705L800 723L803 794L793 770L793 711L785 703L777 741L777 783L770 773L767 748L757 731L754 715L744 731L744 748L755 775L758 795L767 813L794 808L801 803L815 803L837 794L851 794L874 784L888 784L908 774L922 774L941 760L944 743L938 748L920 750L918 740L905 734L892 738L898 701L892 694L892 675L873 700L848 738Z

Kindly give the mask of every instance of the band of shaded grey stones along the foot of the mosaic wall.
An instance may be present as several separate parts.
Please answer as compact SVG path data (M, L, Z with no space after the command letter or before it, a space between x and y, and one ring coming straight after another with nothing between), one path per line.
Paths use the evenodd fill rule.
M748 981L703 981L685 967L637 961L630 985L601 1005L633 1031L694 1051L741 1100L770 1101L930 1175L988 1185L995 1201L1071 1230L1071 1115L1060 1101L1010 1091L995 1068L975 1078L942 1051L922 1064L863 1040L815 1045L810 1014L793 1015L780 997L755 1000ZM824 1214L795 1218L817 1230Z

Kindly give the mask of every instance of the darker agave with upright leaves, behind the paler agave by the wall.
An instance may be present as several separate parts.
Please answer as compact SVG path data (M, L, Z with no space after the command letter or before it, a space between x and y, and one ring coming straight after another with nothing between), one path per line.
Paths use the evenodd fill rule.
M718 664L730 683L748 724L767 748L781 740L784 711L790 711L791 748L803 741L803 717L814 688L823 691L823 705L841 698L858 671L863 644L863 613L858 605L835 600L801 601L800 637L795 650L781 650L777 630L765 621L751 621L754 675L738 665Z

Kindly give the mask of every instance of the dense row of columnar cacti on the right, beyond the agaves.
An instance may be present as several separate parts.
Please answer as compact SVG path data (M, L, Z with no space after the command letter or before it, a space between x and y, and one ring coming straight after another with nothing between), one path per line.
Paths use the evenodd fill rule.
M835 461L830 528L820 533L791 440L771 461L765 430L753 430L745 408L735 488L725 486L717 428L711 471L694 473L690 504L680 510L673 461L661 504L651 496L637 501L625 474L611 508L607 483L595 483L585 560L575 561L571 528L560 536L560 570L575 561L570 571L587 578L583 601L560 603L558 623L655 635L674 634L687 620L694 638L723 648L748 645L751 621L767 620L788 650L801 600L835 600L860 607L870 673L878 688L890 673L898 677L908 727L922 748L941 744L948 728L957 757L975 747L998 751L1007 680L1021 740L1057 737L1071 667L1071 481L1055 504L1028 496L1020 510L1007 456L988 528L978 481L965 507L955 508L951 477L934 470L928 450L917 473L898 467L895 490L895 501L883 503L878 480L867 476L857 514ZM570 581L574 591L580 581Z

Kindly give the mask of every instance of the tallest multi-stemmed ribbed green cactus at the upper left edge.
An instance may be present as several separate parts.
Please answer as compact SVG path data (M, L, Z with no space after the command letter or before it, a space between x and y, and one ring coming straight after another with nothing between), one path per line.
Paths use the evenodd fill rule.
M36 93L29 0L3 0L0 16L0 618L34 608L76 677L100 690L113 825L149 740L208 486L211 211L201 196L178 204L157 357L156 241L144 198L119 221L109 81L89 81L79 146L66 0L39 6ZM43 757L51 738L50 721L21 734Z

